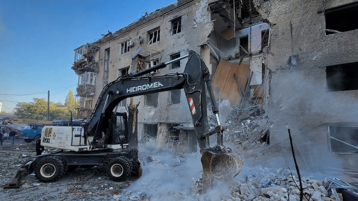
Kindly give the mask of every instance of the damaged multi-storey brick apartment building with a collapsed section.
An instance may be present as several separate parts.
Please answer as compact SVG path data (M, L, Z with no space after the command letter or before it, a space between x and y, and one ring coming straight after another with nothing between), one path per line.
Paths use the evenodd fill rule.
M75 49L79 117L91 115L107 83L194 50L211 71L218 101L229 100L238 110L263 105L273 122L270 148L252 157L288 153L289 128L297 146L314 148L302 154L306 158L356 158L358 86L349 75L357 74L357 4L178 0L146 13ZM186 61L151 74L183 72ZM146 147L197 149L183 90L127 98L120 106L130 102L140 102L138 138Z

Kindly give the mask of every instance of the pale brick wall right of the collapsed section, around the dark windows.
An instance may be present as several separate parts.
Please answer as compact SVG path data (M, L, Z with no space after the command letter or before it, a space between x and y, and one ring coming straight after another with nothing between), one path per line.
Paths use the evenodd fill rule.
M352 2L327 1L325 7ZM325 66L358 62L358 43L353 42L358 40L358 30L325 35L324 13L318 13L322 9L322 1L309 0L271 0L258 8L262 18L271 24L270 52L264 56L267 68L274 74L270 101L264 108L275 123L270 129L271 144L279 144L267 149L271 151L265 150L252 157L263 158L277 151L290 156L289 141L281 142L288 137L287 128L290 128L292 134L297 134L295 143L317 144L323 165L332 157L327 123L358 122L358 90L327 92L325 73ZM291 69L287 67L290 55L299 55L297 65ZM355 155L350 158L357 161Z

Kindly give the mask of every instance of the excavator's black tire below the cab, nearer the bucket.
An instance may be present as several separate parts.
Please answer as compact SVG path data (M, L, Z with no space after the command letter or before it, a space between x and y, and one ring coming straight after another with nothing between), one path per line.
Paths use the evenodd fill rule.
M113 181L124 181L132 172L131 162L124 156L112 159L106 168L108 177Z

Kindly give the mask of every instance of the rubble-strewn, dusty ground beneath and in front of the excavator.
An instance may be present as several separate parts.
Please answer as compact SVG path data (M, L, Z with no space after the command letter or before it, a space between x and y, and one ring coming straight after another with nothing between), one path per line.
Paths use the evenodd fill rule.
M46 150L47 152L55 150ZM5 140L0 147L0 200L21 201L298 201L298 179L286 168L244 167L226 185L206 194L201 192L200 154L178 154L166 150L140 152L143 176L124 182L108 179L105 167L78 168L56 182L42 183L28 175L18 189L3 189L14 178L19 166L35 156L35 143ZM304 200L334 201L322 180L313 175L303 178Z

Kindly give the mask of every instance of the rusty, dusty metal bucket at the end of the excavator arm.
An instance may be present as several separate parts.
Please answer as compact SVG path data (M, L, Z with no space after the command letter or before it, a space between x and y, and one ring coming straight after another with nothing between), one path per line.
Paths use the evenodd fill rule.
M237 152L205 151L201 157L203 165L203 193L235 177L244 165L244 160Z

